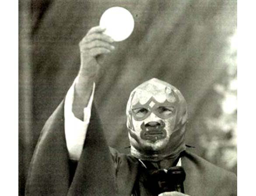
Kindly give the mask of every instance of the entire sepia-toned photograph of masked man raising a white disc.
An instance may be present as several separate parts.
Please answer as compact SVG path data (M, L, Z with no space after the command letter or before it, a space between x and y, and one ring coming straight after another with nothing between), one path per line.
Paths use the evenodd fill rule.
M237 196L236 0L18 2L19 196Z

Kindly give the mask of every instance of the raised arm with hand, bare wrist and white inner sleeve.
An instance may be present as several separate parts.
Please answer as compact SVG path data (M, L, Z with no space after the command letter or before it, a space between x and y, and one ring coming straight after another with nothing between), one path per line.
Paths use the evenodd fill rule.
M92 27L81 40L81 67L65 99L65 138L72 160L79 160L91 116L95 77L100 69L97 57L114 50L112 38L101 27Z

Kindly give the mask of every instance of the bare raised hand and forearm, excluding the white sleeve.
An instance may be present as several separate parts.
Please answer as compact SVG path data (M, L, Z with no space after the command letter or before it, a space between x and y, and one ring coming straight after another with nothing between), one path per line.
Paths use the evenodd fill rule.
M100 69L96 57L108 54L115 49L113 39L105 34L104 28L92 27L79 43L81 67L75 84L73 112L83 120L84 108L88 105L95 77Z

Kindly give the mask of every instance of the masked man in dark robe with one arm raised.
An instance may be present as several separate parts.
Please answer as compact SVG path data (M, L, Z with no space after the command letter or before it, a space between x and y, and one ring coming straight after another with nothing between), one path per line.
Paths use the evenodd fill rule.
M92 105L102 66L97 57L115 49L104 30L91 28L79 44L78 76L42 130L26 195L236 195L234 174L186 151L186 101L164 81L153 78L130 94L126 115L131 155L108 147ZM168 174L182 173L181 168L184 184L181 180L172 186L180 177Z

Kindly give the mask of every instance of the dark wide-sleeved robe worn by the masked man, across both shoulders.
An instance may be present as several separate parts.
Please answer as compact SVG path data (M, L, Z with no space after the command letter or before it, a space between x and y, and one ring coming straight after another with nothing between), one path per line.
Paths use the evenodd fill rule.
M140 162L109 148L92 106L81 158L70 162L64 132L64 104L47 120L31 161L27 196L131 196L140 179ZM236 196L236 175L190 152L182 153L185 193ZM75 169L74 169L75 168Z

